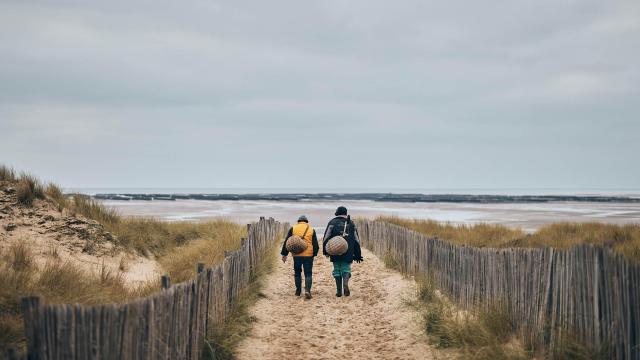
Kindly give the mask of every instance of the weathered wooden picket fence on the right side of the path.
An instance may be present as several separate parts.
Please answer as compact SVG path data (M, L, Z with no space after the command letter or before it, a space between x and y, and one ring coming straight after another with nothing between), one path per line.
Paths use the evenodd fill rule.
M608 356L640 359L640 266L608 248L475 248L378 221L359 221L362 245L403 270L433 274L465 308L506 306L525 339L552 349L571 334Z

